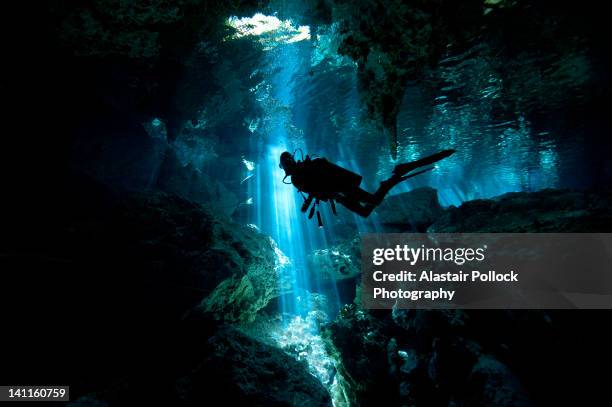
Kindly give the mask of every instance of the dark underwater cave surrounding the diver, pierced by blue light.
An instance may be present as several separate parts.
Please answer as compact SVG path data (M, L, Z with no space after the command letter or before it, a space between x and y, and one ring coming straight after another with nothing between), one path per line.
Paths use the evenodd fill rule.
M602 6L18 3L0 28L0 385L69 385L70 406L606 393L607 311L360 302L363 233L612 232ZM318 184L360 176L369 216L308 211L283 152L346 170Z

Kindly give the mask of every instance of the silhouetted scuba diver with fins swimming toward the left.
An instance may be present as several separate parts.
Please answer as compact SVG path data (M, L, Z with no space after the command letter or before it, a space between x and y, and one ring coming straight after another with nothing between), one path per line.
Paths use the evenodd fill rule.
M362 180L361 175L333 164L325 158L313 159L307 155L305 158L302 156L302 160L296 161L295 152L291 154L285 151L280 156L279 167L285 170L283 182L293 184L302 194L304 204L301 211L306 213L310 208L308 219L311 219L316 210L318 224L323 226L321 214L317 209L320 202L329 202L334 215L336 214L335 202L338 202L348 210L364 218L368 217L374 208L382 203L391 188L408 178L430 171L434 167L409 174L411 171L431 165L454 152L455 150L443 150L416 161L396 165L393 169L393 175L382 181L380 187L374 193L367 192L359 187ZM287 177L291 177L291 182L285 182ZM313 201L314 205L312 205Z

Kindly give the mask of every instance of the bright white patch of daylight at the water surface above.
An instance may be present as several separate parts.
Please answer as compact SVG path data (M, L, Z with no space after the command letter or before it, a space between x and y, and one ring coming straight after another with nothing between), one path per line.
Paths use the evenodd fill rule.
M276 16L266 16L261 13L253 17L232 16L227 19L227 25L236 30L230 39L260 37L259 42L266 46L265 49L270 49L277 44L290 44L310 39L309 26L296 27L291 20L281 21Z

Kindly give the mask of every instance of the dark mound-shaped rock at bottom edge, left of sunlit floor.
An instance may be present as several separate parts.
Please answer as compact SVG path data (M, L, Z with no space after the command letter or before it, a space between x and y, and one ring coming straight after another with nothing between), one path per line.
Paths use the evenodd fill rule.
M331 406L323 385L280 349L229 328L209 343L210 356L178 382L189 405Z

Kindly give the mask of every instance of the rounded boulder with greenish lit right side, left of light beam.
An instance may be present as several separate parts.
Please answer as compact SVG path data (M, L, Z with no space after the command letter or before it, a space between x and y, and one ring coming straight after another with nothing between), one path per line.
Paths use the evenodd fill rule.
M280 281L282 253L253 229L173 195L137 194L124 205L122 223L136 234L124 238L134 239L140 258L155 262L163 279L202 292L203 310L218 319L250 320L289 290Z

